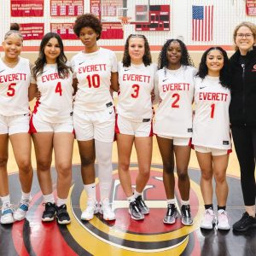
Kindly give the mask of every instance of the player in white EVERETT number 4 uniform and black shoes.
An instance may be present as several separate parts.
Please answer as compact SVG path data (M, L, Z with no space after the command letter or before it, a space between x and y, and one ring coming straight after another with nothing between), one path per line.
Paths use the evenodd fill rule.
M67 66L61 37L49 32L40 44L32 68L40 98L32 112L30 131L35 146L38 182L44 197L42 221L69 224L67 195L72 178L73 155L73 73ZM52 188L50 165L55 151L57 201Z

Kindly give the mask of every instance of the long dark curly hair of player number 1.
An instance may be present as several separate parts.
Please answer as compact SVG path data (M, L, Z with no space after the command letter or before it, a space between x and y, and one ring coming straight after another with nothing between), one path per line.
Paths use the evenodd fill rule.
M203 55L201 56L201 62L199 64L198 73L196 73L196 76L205 79L205 77L208 74L208 67L207 67L207 55L211 50L218 50L221 55L224 57L224 66L219 72L219 83L226 88L230 88L230 64L229 64L229 57L224 49L221 47L211 47L207 49Z

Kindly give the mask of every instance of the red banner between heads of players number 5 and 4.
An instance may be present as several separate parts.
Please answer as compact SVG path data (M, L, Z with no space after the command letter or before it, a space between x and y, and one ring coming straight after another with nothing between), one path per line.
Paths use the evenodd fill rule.
M44 23L21 23L20 33L23 40L40 40L44 37Z

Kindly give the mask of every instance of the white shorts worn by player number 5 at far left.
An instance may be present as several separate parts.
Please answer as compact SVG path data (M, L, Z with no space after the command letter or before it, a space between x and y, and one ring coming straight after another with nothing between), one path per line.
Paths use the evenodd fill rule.
M29 131L29 113L4 116L0 114L0 134L15 134Z

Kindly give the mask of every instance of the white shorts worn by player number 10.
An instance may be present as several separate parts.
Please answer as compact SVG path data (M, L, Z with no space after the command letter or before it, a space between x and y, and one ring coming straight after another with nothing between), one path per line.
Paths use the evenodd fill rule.
M73 126L78 141L96 139L102 143L113 143L114 108L102 111L73 112Z

